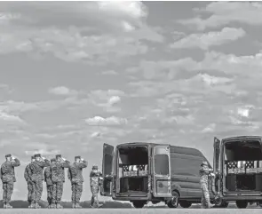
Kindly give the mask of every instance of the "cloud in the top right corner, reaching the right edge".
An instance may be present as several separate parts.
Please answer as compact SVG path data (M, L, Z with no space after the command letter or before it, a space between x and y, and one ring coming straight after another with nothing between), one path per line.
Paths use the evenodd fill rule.
M206 19L197 15L193 19L178 20L178 22L199 30L218 28L231 22L245 23L251 26L262 25L262 4L255 2L212 2L204 8L195 8L195 12L201 15L211 13L211 15Z

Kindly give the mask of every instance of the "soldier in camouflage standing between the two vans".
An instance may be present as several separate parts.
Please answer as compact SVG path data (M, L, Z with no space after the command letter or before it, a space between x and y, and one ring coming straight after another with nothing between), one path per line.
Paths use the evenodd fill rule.
M209 169L208 162L202 162L201 168L199 170L200 174L200 185L202 189L202 208L210 208L212 204L210 203L210 193L209 193L209 175L212 169Z

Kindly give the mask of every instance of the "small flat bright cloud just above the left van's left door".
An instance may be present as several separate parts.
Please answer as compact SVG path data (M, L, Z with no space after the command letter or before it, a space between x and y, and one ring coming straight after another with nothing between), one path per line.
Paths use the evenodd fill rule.
M107 126L107 125L123 125L127 123L125 118L118 118L115 116L110 116L103 118L101 116L94 116L85 120L85 123L94 126Z

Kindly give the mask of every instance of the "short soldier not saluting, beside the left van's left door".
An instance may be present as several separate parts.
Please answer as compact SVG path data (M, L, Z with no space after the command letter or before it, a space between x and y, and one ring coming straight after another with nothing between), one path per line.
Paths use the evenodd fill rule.
M90 172L90 187L91 187L91 207L99 207L99 185L100 180L102 179L102 173L99 171L99 167L94 165L92 166Z

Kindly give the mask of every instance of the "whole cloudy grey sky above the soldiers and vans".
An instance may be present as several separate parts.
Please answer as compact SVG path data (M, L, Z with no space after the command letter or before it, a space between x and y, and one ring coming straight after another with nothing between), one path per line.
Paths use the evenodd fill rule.
M195 147L212 162L215 136L259 135L261 26L255 2L1 2L0 161L21 162L12 199L27 199L35 153L85 158L89 200L104 143Z

